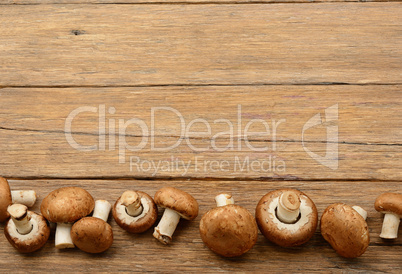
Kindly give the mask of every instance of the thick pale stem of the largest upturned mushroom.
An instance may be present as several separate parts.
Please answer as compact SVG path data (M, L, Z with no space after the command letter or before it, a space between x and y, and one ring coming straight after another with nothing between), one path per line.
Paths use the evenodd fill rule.
M276 215L284 223L292 224L296 222L300 214L300 197L292 192L285 191L279 197Z

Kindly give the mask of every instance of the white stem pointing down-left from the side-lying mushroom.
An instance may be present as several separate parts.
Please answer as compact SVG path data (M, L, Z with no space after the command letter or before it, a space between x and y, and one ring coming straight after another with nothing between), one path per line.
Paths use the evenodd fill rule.
M180 215L169 208L165 209L162 219L157 227L155 227L154 237L161 243L168 244L172 241L172 235L176 230L176 226L180 221Z

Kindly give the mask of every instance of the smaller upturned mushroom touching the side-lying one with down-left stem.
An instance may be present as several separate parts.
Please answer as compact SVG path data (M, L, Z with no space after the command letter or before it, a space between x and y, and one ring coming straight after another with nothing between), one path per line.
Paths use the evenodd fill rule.
M113 217L124 230L142 233L155 223L158 208L145 192L127 190L114 204Z

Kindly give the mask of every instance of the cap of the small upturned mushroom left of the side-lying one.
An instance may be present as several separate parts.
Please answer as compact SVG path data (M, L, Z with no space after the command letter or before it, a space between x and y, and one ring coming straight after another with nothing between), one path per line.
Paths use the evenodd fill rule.
M141 200L143 211L138 216L130 216L126 206L122 204L121 197L113 207L113 217L116 223L130 233L142 233L149 229L158 218L158 207L151 196L142 191L136 191Z

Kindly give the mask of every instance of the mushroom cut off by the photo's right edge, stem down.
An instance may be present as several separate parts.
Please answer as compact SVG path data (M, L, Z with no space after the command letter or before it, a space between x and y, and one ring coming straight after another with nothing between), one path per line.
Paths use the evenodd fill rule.
M375 210L385 214L380 237L398 238L399 222L402 216L402 194L383 193L377 197L374 207Z

